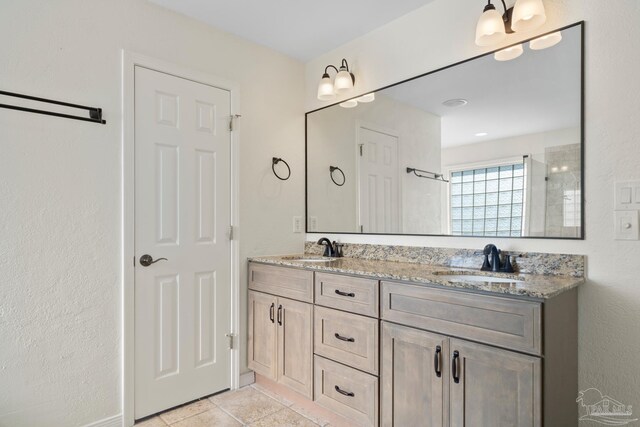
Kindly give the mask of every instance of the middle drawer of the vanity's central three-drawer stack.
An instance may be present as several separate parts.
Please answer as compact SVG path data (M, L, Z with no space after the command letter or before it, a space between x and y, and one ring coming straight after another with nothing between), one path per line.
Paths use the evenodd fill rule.
M378 319L316 307L314 328L317 354L378 374Z

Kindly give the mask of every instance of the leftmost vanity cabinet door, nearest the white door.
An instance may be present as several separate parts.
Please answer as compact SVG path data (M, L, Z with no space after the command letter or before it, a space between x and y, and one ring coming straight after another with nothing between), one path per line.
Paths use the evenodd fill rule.
M274 296L249 291L248 365L272 380L277 378L277 303Z

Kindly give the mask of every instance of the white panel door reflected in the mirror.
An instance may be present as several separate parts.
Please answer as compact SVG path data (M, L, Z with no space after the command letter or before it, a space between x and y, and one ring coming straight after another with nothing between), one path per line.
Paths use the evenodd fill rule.
M360 128L359 204L363 233L399 233L398 138Z

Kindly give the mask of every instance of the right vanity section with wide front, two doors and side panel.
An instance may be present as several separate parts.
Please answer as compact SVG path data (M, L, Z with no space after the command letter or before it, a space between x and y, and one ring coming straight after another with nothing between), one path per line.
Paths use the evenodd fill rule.
M383 426L577 425L575 289L544 302L398 282L381 294Z

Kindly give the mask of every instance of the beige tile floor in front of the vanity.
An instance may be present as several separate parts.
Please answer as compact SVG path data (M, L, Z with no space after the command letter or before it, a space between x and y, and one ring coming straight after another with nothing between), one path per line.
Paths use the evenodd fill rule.
M164 412L136 427L328 427L303 408L257 384Z

